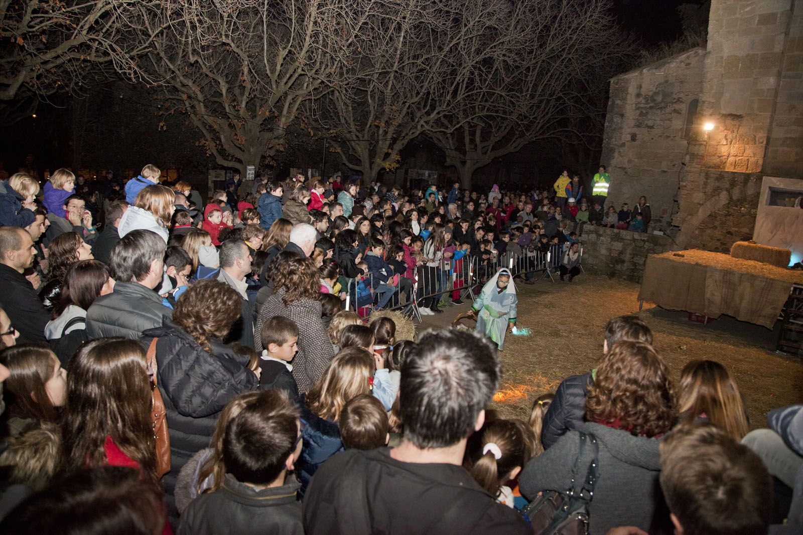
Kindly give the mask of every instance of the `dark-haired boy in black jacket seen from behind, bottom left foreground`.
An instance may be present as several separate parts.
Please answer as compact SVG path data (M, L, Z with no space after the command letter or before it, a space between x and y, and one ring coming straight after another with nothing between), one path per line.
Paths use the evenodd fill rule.
M300 485L292 478L285 484L301 454L299 439L299 410L287 395L255 395L226 426L220 488L190 503L177 533L303 533Z

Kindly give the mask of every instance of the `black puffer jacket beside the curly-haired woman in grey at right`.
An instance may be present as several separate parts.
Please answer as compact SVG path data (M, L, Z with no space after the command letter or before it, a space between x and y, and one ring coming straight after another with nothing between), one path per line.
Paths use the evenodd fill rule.
M567 431L579 429L585 423L585 396L591 384L593 377L589 371L583 375L569 375L557 387L541 428L544 448L549 448Z

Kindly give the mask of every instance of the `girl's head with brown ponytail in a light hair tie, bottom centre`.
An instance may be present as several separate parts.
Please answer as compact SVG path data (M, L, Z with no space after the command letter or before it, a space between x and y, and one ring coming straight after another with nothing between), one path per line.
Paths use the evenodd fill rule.
M524 422L491 420L469 440L469 472L496 501L512 508L512 487L516 487L516 478L532 458L533 444L532 430Z

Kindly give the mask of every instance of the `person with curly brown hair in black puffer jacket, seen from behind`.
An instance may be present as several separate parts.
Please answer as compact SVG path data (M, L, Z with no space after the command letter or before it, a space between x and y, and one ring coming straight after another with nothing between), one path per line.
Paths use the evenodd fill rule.
M240 317L242 298L216 280L195 282L178 298L173 319L145 330L142 345L155 344L157 385L167 410L170 472L162 478L169 513L175 517L173 488L181 467L206 448L220 411L236 395L253 391L259 379L248 355L221 342Z

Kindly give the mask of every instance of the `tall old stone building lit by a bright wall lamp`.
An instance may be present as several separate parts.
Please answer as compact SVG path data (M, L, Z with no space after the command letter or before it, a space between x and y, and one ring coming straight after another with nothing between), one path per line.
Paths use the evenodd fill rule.
M803 178L803 1L712 0L705 50L613 78L602 163L683 248L752 237L761 178Z

